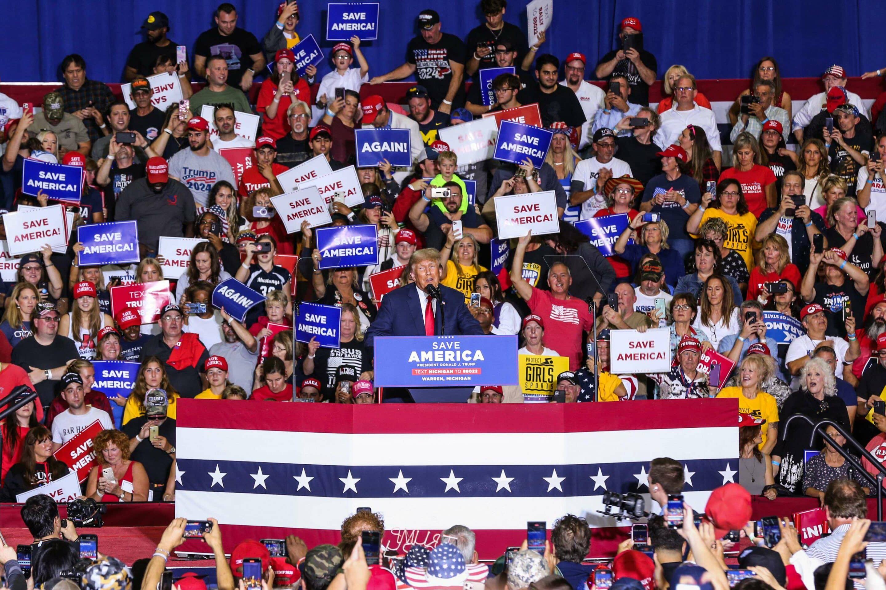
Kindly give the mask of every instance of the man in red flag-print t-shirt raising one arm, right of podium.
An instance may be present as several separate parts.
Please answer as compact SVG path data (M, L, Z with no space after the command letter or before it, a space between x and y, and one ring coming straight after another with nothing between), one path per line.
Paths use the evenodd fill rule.
M570 371L579 368L583 356L582 332L591 330L591 314L587 303L569 295L572 277L569 267L563 263L551 264L548 269L549 291L532 287L523 278L523 257L526 246L532 240L532 230L517 241L517 250L511 263L510 280L529 305L532 313L544 318L548 331L548 344L560 356L569 357Z

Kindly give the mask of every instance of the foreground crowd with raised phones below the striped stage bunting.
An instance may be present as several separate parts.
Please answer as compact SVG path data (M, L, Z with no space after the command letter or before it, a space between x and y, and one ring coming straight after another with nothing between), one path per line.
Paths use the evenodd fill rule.
M10 590L206 590L208 580L196 572L167 569L176 548L190 539L206 543L219 590L843 590L886 584L886 543L877 540L879 533L867 534L874 529L857 482L841 478L828 484L822 494L830 533L805 546L790 518L767 518L775 522L766 523L769 530L750 520L750 493L735 483L713 490L701 513L686 502L673 506L674 494L688 483L683 469L669 457L649 464L651 499L661 511L653 504L647 522L633 525L610 560L587 559L596 537L585 517L572 514L543 531L543 542L526 539L501 548L497 559L481 561L478 535L468 526L450 526L427 545L389 549L379 543L385 539L384 515L358 510L342 522L336 545L309 547L295 535L243 540L229 557L215 518L208 518L198 536L186 532L190 521L175 518L153 555L127 566L101 541L88 545L73 520L59 517L50 496L36 494L20 510L33 542L24 546L27 551L0 545L0 566ZM246 571L247 562L254 571ZM170 576L171 586L163 586L161 580Z

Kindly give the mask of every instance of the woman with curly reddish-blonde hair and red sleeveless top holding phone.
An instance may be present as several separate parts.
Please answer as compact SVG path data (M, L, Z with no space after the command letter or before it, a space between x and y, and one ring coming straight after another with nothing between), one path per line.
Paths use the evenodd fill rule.
M97 465L89 470L86 497L97 502L147 502L151 482L144 465L129 459L129 437L119 430L103 430L92 440ZM105 479L110 467L113 479Z

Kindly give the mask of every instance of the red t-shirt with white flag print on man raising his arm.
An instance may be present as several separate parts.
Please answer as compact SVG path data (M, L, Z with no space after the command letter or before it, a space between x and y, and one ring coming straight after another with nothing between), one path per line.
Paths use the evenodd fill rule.
M569 357L569 370L575 371L581 363L584 350L582 332L591 329L591 314L587 303L576 297L555 299L550 291L532 287L529 309L545 320L545 346Z

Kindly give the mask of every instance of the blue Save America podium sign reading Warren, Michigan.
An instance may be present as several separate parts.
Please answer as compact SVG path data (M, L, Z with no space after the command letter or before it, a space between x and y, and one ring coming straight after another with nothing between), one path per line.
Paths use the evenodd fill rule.
M381 336L376 387L517 385L517 336Z

